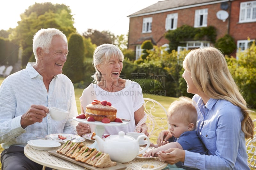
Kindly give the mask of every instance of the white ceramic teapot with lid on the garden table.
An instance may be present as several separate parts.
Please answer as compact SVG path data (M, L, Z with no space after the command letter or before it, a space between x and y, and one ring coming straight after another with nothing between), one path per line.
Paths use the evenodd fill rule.
M125 163L133 160L137 155L146 152L150 141L146 135L140 135L137 139L134 139L124 134L123 131L120 131L118 135L111 135L105 141L97 135L93 138L97 141L100 152L108 153L113 161ZM148 140L147 146L142 151L140 151L139 145L140 138Z

